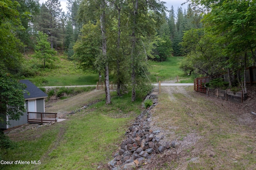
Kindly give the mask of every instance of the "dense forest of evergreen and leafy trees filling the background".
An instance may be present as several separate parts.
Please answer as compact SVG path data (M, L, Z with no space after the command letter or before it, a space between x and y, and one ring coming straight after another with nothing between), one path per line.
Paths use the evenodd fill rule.
M1 79L36 76L39 67L58 62L61 53L84 71L104 75L106 104L111 103L110 73L118 96L129 85L135 101L136 91L148 87L148 60L184 56L180 68L185 73L228 73L229 87L239 84L246 92L246 67L256 64L255 2L186 3L187 9L175 13L160 0L68 0L65 13L58 0L2 0ZM242 77L234 76L239 70Z

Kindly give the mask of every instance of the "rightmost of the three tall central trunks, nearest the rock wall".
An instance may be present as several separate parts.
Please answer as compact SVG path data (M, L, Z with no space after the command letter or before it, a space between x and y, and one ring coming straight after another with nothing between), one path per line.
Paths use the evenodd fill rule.
M134 11L133 11L133 27L132 27L132 54L131 54L131 61L132 61L132 102L136 100L136 91L135 91L135 86L136 86L136 81L135 81L135 56L134 56L134 51L136 47L136 33L135 33L135 28L136 28L136 17L137 17L137 11L138 11L138 0L133 1L133 6L134 6Z

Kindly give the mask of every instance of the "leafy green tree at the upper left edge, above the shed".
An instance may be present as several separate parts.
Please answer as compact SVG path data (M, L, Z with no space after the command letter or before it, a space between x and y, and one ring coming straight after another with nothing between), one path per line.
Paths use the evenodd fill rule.
M17 32L22 32L19 4L16 1L0 1L0 71L18 73L22 61L19 49L23 43L18 39Z

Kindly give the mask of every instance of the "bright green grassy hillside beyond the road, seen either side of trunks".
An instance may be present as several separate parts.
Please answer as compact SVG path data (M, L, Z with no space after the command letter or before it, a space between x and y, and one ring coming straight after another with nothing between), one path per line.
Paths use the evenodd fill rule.
M182 83L190 83L190 77L185 75L178 67L183 57L169 57L167 61L159 63L148 61L150 64L150 74L148 77L151 82L156 82L156 77L180 77ZM40 64L40 63L37 63ZM113 76L110 76L110 81ZM97 73L84 73L72 61L68 61L64 56L48 68L41 69L40 75L29 78L37 86L68 86L68 85L96 85L98 81ZM184 81L186 80L186 81Z

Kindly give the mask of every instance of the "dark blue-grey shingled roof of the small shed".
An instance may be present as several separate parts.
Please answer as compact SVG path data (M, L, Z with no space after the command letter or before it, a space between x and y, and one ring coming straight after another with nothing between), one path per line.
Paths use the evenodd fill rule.
M28 95L27 93L24 93L25 99L48 97L46 95L46 93L44 93L42 90L40 90L38 87L36 87L36 85L34 85L31 81L20 80L20 83L25 84L27 86L27 88L25 90L30 93L30 95Z

